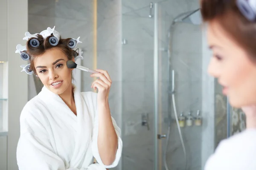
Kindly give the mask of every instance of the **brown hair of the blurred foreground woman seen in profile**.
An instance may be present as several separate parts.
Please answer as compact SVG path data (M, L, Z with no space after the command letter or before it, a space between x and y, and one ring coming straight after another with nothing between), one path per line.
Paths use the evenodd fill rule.
M201 0L204 22L218 21L224 31L256 59L256 22L245 18L236 0Z

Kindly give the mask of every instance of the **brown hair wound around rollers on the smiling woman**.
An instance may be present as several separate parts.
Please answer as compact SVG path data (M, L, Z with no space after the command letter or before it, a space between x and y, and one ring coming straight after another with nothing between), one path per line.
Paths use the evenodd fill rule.
M27 51L25 51L27 54L29 54L29 62L30 62L30 69L32 71L34 71L34 74L36 74L36 70L35 70L35 58L36 57L40 57L40 55L44 54L47 50L52 49L52 48L58 48L60 49L62 52L64 52L64 54L66 54L68 60L73 59L73 57L75 57L75 55L78 55L78 53L74 50L72 50L71 48L69 48L67 46L69 40L71 38L67 38L67 39L61 39L58 42L58 45L56 46L52 46L49 43L49 38L53 37L53 35L47 37L44 39L44 37L40 34L37 34L37 40L39 41L39 46L38 47L32 47L29 43L30 40L35 39L34 37L30 38L27 43L26 43L26 48Z

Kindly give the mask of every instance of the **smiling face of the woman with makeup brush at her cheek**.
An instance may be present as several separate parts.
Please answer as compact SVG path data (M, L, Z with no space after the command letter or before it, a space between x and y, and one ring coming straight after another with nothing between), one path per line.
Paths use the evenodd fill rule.
M72 86L72 69L67 68L68 58L58 48L47 50L35 58L35 69L46 88L55 94L63 94Z

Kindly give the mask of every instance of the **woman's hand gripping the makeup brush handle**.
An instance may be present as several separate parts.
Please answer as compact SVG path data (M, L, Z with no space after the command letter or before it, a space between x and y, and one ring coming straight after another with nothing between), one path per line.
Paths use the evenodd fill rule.
M98 102L106 103L108 102L108 95L111 88L111 78L108 71L96 69L99 73L91 74L90 77L99 77L93 83L91 88L96 90L98 88Z

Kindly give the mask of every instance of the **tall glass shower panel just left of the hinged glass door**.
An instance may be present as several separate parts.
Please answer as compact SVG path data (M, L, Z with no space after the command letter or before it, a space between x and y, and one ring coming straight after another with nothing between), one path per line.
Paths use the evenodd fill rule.
M150 6L122 14L122 170L154 167L154 11L150 13Z

